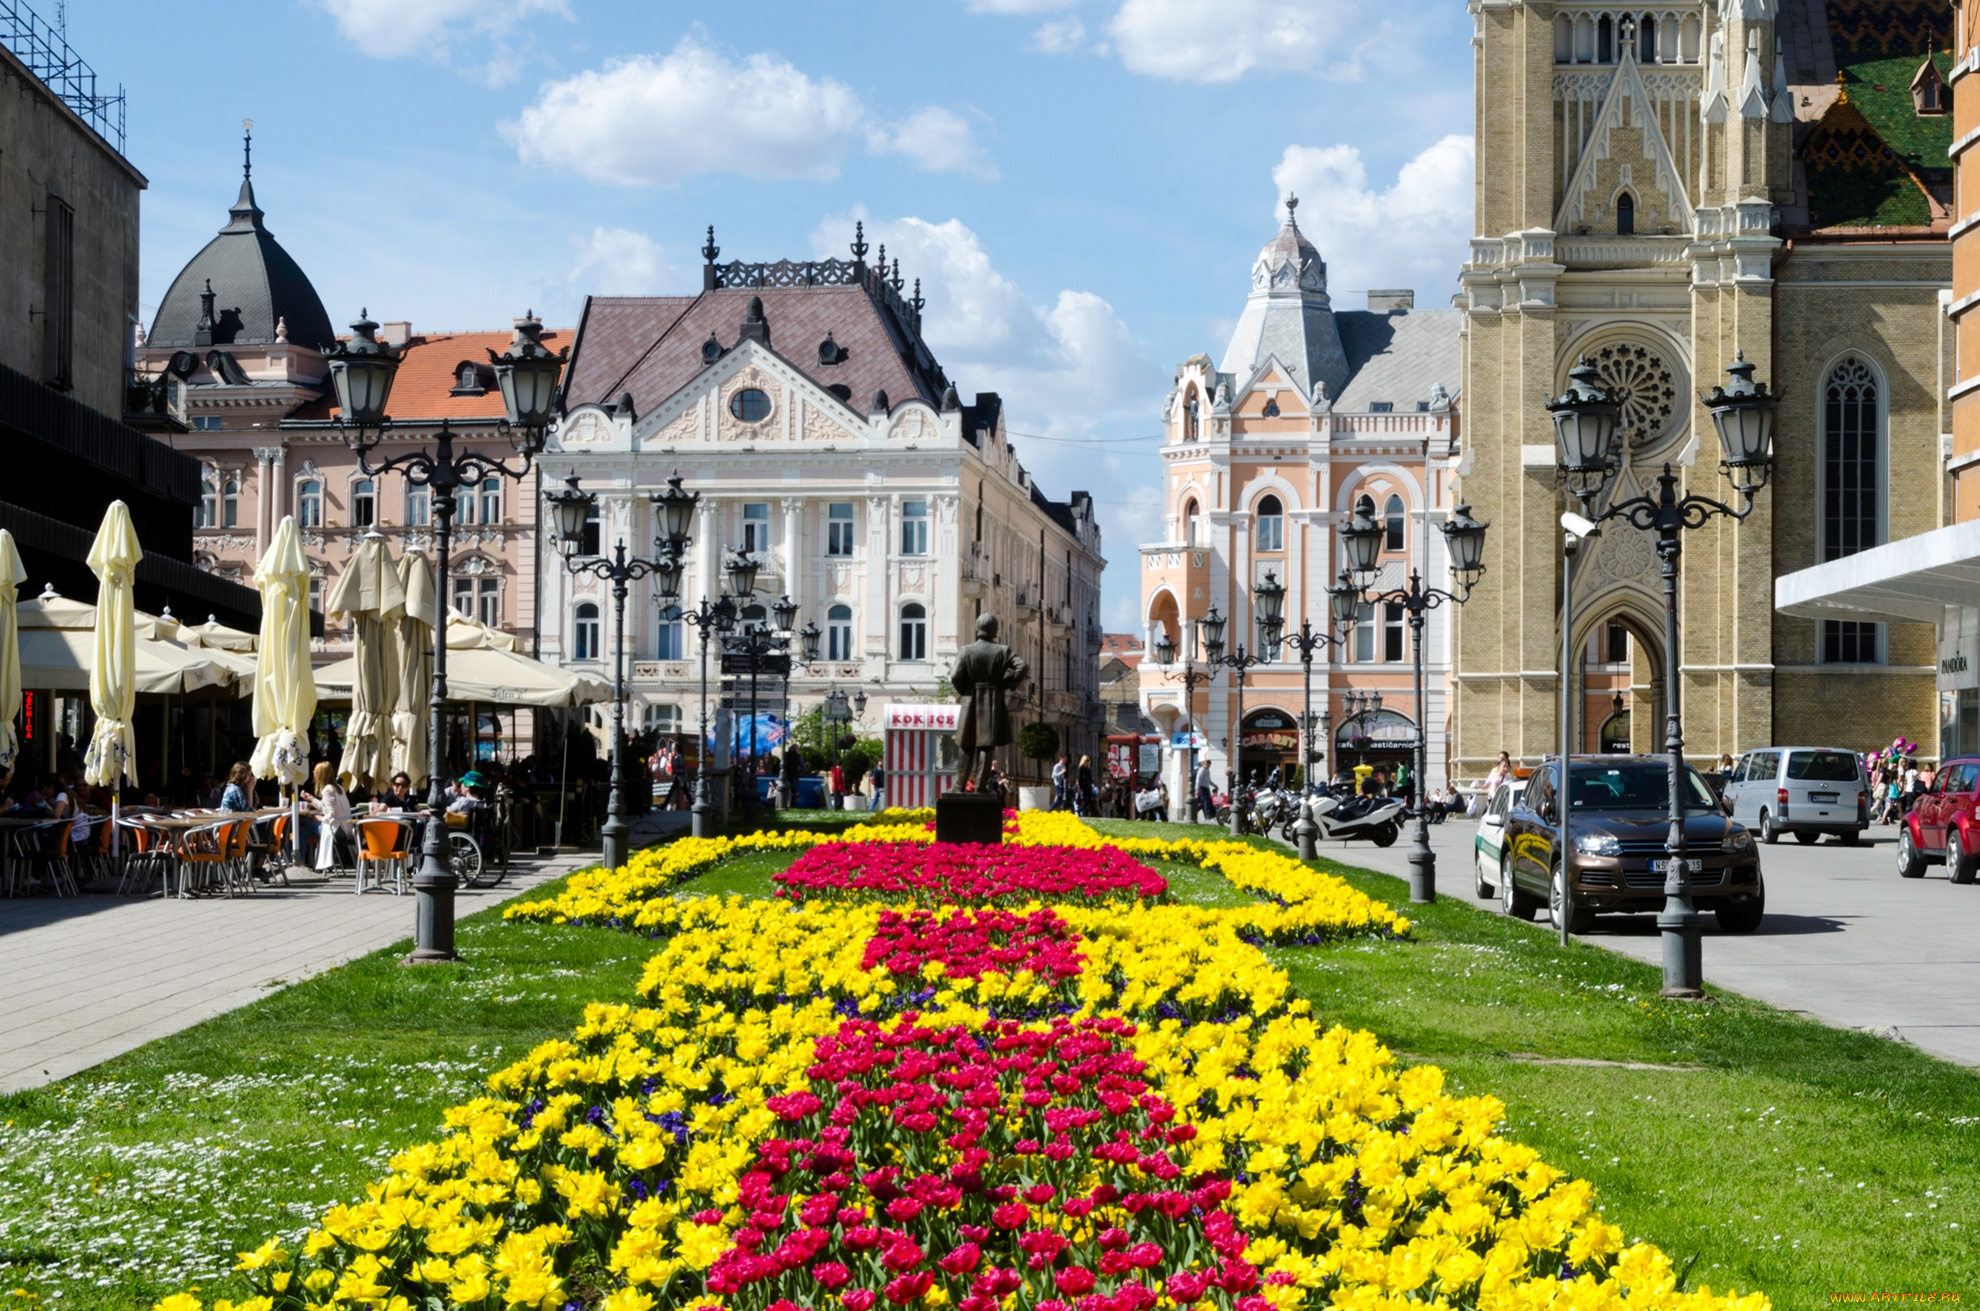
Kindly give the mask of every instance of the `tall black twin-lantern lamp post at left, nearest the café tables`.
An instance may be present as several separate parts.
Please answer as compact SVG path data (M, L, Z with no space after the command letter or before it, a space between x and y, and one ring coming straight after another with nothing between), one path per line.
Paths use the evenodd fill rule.
M495 475L521 481L529 473L531 463L543 452L544 432L556 412L556 382L570 360L570 347L558 353L544 347L543 323L525 311L515 321L509 349L501 354L489 351L505 414L499 432L521 459L513 467L495 455L455 452L455 436L446 422L434 434L434 452L406 452L372 463L372 450L392 430L386 402L392 394L392 378L398 374L398 354L378 341L378 325L372 323L370 315L358 311L356 323L350 325L350 341L337 343L325 360L331 368L331 384L337 388L337 432L345 446L356 454L358 469L366 477L404 469L408 483L428 487L434 493L434 572L440 586L436 598L440 614L434 616L434 695L428 707L432 774L428 774L426 790L426 804L434 814L420 844L420 871L412 877L414 949L410 960L455 960L453 889L459 887L459 877L447 859L447 826L440 820L447 808L442 774L446 772L447 747L447 553L453 547L453 495L463 483L479 485Z

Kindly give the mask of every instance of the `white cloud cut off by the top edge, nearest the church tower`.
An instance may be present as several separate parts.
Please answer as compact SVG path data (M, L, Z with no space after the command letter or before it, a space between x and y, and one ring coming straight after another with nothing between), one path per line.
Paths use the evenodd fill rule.
M1152 77L1352 77L1380 36L1366 10L1366 0L1123 0L1109 32L1121 63Z

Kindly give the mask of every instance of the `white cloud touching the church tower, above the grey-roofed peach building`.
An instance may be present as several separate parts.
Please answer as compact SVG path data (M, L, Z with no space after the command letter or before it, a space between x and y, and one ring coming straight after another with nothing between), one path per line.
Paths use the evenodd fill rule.
M1471 238L1471 137L1443 137L1376 190L1354 147L1287 147L1271 180L1299 196L1299 226L1331 289L1447 287ZM1283 208L1279 210L1283 214Z

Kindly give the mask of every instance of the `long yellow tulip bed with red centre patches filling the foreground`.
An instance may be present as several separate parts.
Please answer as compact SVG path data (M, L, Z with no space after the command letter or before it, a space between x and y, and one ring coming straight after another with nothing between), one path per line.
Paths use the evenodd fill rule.
M628 899L642 1004L246 1254L224 1311L1766 1307L1677 1291L1497 1099L1321 1026L1243 941L1287 901Z

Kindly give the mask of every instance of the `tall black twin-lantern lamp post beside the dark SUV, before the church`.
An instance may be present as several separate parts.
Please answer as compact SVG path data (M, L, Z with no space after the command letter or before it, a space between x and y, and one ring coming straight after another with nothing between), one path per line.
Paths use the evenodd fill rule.
M1701 396L1719 434L1719 467L1734 491L1740 493L1740 507L1732 509L1725 501L1687 491L1677 495L1677 475L1671 465L1663 465L1657 477L1655 495L1635 495L1618 501L1592 515L1592 523L1622 519L1630 527L1657 535L1657 564L1663 576L1663 683L1665 721L1663 749L1669 756L1669 806L1671 826L1663 840L1663 911L1657 915L1657 929L1663 935L1663 996L1701 998L1705 996L1705 970L1699 943L1699 913L1691 905L1691 867L1685 861L1685 729L1679 713L1679 659L1677 659L1677 560L1683 555L1685 529L1701 529L1717 517L1734 523L1752 513L1752 499L1766 487L1774 471L1774 404L1778 392L1768 392L1766 382L1752 380L1752 364L1738 353L1727 366L1731 386L1715 386L1709 396ZM1546 400L1548 416L1554 420L1558 444L1558 469L1580 503L1584 515L1600 501L1610 481L1616 477L1618 459L1614 452L1616 422L1614 398L1596 386L1596 370L1584 356L1568 372L1570 388ZM1566 675L1566 669L1562 669ZM1556 810L1566 814L1568 760L1560 760L1560 788ZM1558 915L1566 917L1568 903L1568 859L1566 859L1566 820L1562 818L1558 869L1554 885L1562 893Z

